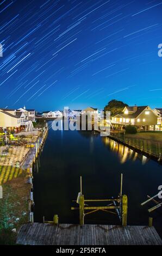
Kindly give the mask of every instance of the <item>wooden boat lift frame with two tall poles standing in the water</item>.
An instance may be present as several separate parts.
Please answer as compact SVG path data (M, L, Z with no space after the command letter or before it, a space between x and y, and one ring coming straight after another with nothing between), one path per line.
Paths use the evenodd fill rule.
M127 225L127 210L128 210L128 199L125 194L122 195L122 181L123 175L121 174L121 187L120 193L117 198L111 197L111 199L84 199L82 193L82 176L80 176L80 192L78 193L77 200L73 200L79 204L79 207L72 207L71 210L79 210L79 223L84 224L84 217L88 214L92 214L97 211L104 211L110 214L117 214L122 222L123 226ZM88 206L85 202L109 202L106 206ZM90 210L88 212L85 212ZM115 211L113 211L115 210Z

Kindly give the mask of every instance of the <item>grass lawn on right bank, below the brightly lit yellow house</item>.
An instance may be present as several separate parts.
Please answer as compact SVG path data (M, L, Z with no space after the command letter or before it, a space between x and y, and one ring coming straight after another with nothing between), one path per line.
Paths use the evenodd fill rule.
M151 150L154 154L162 154L162 132L161 131L147 131L138 132L136 134L126 134L126 141L130 141L130 144L143 146L143 149Z

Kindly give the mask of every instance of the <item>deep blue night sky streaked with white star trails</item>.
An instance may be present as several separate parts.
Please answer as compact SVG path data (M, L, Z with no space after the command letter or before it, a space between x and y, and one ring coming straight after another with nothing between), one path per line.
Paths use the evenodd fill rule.
M0 107L162 107L161 0L2 0L0 17Z

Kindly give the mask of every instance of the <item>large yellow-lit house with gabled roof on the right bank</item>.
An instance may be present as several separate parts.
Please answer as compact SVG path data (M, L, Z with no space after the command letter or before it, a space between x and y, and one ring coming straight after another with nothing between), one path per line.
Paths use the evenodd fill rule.
M149 106L124 107L121 113L112 117L111 124L121 130L127 125L135 125L138 130L155 130L157 115Z

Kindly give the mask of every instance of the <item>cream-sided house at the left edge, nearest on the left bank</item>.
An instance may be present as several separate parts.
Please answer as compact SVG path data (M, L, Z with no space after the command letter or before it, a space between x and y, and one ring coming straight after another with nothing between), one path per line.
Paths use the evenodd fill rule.
M33 129L32 121L26 119L26 115L15 109L0 109L0 129L8 132L30 131Z

